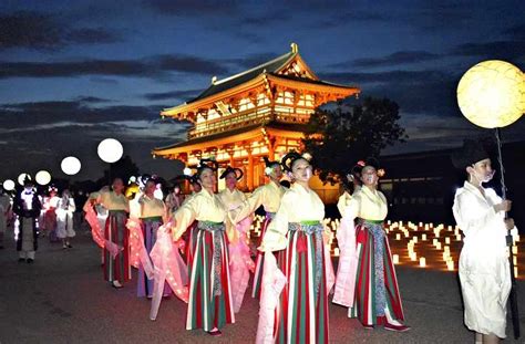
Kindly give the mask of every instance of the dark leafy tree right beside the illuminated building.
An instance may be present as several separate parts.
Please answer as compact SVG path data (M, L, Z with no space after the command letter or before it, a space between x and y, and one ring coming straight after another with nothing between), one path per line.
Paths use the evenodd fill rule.
M388 98L338 103L334 110L316 110L302 143L321 169L321 180L337 183L359 159L377 157L384 147L408 138L399 119L399 105Z

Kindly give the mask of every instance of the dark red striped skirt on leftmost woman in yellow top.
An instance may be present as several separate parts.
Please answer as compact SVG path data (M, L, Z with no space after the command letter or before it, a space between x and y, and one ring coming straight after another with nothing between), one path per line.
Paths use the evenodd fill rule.
M104 249L104 279L124 283L131 280L128 237L126 227L127 213L121 210L110 210L105 221L104 238L116 243L123 250L113 259L110 251Z

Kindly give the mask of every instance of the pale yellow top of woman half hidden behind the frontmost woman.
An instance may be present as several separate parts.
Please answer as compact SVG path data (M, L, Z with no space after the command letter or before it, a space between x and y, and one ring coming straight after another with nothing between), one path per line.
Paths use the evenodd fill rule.
M254 194L246 201L243 202L239 212L235 216L234 222L239 222L260 206L265 208L266 212L277 212L280 206L282 196L287 188L270 181L266 185L259 186Z

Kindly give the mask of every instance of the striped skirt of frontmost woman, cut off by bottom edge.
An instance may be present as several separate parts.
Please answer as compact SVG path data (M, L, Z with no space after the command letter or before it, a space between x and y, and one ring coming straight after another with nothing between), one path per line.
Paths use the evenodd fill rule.
M302 230L288 231L287 249L280 251L277 263L287 277L280 305L276 310L278 343L328 343L327 267L321 256L321 269L316 271L316 251L325 254L325 244L316 234ZM318 281L318 285L316 285Z

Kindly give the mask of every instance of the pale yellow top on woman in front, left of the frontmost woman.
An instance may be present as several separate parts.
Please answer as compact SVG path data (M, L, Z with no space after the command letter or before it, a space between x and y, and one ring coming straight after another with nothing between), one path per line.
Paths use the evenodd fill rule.
M188 198L173 215L175 226L172 228L174 241L178 240L193 221L225 222L226 207L220 198L202 189Z

